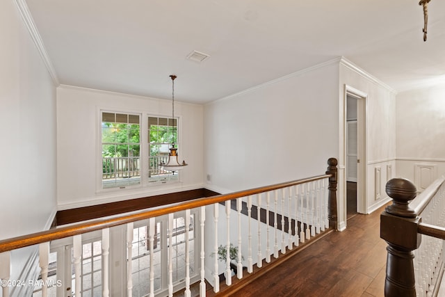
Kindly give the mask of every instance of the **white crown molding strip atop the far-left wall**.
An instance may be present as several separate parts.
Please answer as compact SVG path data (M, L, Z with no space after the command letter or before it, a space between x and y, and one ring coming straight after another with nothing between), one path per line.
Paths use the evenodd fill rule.
M31 38L33 39L33 42L35 46L37 47L40 56L42 57L44 65L47 67L47 70L49 72L49 75L51 76L52 81L57 86L60 85L57 77L56 70L54 69L53 64L51 63L51 60L49 59L47 50L44 48L42 38L40 38L40 34L37 30L37 27L35 26L33 17L31 16L31 13L29 11L28 5L26 4L25 0L15 0L14 1L20 15L22 16L22 19L24 21L24 24L26 26L26 29L28 29L29 34L31 35Z

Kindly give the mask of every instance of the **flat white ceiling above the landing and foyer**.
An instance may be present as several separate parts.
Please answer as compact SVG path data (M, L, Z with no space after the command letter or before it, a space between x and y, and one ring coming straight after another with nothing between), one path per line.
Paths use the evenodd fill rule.
M175 99L206 103L339 56L396 91L445 74L444 0L428 6L427 42L418 0L26 3L70 86L171 99L177 74Z

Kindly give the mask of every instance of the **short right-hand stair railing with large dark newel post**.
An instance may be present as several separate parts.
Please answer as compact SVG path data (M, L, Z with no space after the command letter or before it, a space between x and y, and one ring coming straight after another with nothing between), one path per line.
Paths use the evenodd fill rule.
M388 243L385 296L437 296L444 271L445 175L417 198L408 179L389 180L386 191L393 202L380 216L380 237Z

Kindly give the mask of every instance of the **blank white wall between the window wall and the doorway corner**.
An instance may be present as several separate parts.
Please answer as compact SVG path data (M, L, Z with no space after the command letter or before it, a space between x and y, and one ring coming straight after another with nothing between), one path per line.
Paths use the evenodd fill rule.
M320 175L338 156L338 61L204 109L204 175L220 193Z

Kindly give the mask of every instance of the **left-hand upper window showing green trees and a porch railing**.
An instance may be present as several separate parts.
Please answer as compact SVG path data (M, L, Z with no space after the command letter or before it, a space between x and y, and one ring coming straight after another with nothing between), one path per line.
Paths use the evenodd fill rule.
M102 188L140 184L140 116L102 112Z

